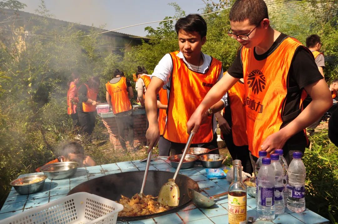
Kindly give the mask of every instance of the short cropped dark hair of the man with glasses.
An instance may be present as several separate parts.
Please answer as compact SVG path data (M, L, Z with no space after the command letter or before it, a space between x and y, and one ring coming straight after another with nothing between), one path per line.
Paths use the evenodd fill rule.
M263 0L236 0L229 19L233 22L249 20L251 25L257 26L263 19L269 19L268 7Z

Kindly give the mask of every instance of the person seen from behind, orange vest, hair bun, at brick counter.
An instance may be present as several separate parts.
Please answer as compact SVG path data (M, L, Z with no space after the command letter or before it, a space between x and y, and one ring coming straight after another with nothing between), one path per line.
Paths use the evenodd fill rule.
M134 148L134 116L130 100L134 93L130 81L124 77L124 73L116 68L112 80L106 83L106 100L113 110L116 125L119 130L119 141L123 150L127 151L125 129L128 129L128 141L132 152Z

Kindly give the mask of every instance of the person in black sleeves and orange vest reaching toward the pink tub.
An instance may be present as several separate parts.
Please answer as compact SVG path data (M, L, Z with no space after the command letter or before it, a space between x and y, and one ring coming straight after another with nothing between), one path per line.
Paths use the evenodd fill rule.
M93 133L96 119L96 105L100 102L97 95L100 86L98 77L90 77L87 83L79 87L77 113L81 130L89 136Z

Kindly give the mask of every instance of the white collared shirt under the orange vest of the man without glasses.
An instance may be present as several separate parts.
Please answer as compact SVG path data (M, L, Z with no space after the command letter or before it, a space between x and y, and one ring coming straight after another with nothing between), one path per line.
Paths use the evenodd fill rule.
M207 55L207 54L203 54L202 52L201 52L201 55L203 57L203 64L200 67L198 67L198 72L199 73L207 73L207 71L210 67L210 62L211 62L212 57ZM182 52L178 52L176 56L179 57L179 58L182 58L189 69L197 72L197 69L194 69L194 67L192 67L191 64L186 61ZM169 88L170 88L171 72L172 72L172 59L171 59L170 54L166 54L159 61L159 63L156 65L154 72L151 75L151 78L157 77L164 82L163 88L167 89L168 96L169 96L169 91L170 91ZM221 70L221 73L219 74L219 78L218 78L217 82L222 77L223 77L223 69ZM221 101L224 103L224 106L228 105L227 104L227 93L225 93L225 95L222 97ZM214 115L214 117L213 117L213 131L214 131L214 133L216 132L216 129L217 129L217 124L216 124L216 117Z

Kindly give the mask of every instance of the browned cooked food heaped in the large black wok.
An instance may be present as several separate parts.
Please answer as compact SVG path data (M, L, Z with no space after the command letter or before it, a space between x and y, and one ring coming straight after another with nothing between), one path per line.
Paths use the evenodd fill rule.
M121 195L119 203L124 208L119 212L118 217L144 216L165 212L172 208L170 206L163 206L154 199L157 199L157 197L153 197L152 195L144 196L142 199L138 194L135 194L131 198Z

